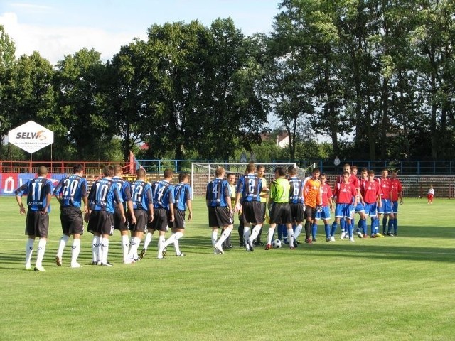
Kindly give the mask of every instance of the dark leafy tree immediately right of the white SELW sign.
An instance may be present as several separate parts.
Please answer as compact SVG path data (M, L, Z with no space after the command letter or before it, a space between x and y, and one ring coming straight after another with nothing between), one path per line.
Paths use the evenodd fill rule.
M78 159L100 160L102 149L112 148L114 136L102 97L106 65L100 53L82 48L66 55L57 68L58 117L65 125L65 142L75 147Z

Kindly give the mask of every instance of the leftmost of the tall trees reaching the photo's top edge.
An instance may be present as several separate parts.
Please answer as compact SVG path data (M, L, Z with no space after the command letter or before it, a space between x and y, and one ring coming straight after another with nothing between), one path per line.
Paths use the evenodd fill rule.
M279 117L284 126L300 126L330 136L334 153L338 153L338 136L349 132L349 122L343 114L341 79L343 55L338 47L340 16L346 11L347 1L285 0L279 4L282 12L275 18L272 40L279 53L281 77L287 91L276 88L277 99L286 94L288 100L279 99L282 105ZM294 85L292 85L294 83ZM294 97L293 100L291 97ZM286 104L288 102L288 104ZM294 103L294 104L292 104ZM294 112L294 113L292 113ZM301 126L299 117L306 116L311 126ZM294 129L289 129L293 138ZM294 155L294 142L290 144Z

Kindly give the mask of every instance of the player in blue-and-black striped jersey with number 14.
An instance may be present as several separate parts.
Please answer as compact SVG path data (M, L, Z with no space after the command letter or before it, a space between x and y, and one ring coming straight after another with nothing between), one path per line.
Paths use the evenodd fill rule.
M173 171L169 168L164 170L164 179L155 181L151 185L154 198L154 220L149 224L149 233L146 235L144 249L142 249L139 258L144 258L147 248L151 242L151 237L158 230L158 249L164 243L164 236L168 230L169 222L173 222L173 185L171 180Z

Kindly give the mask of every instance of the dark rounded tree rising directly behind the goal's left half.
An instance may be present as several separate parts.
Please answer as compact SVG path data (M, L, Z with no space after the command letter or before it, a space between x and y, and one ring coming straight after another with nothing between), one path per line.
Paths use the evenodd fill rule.
M230 18L213 21L209 33L203 122L205 143L210 145L198 151L205 158L227 160L237 141L251 151L267 123L267 104L257 93L263 76L262 42L258 36L246 39Z

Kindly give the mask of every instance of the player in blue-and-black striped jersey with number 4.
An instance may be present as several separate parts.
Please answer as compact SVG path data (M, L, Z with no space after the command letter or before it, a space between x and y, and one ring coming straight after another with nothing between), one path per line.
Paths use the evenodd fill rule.
M216 168L215 179L207 185L205 202L208 208L208 226L212 229L214 252L215 254L224 254L223 242L229 237L234 227L229 183L225 180L225 168ZM223 228L224 231L217 241L218 228Z

